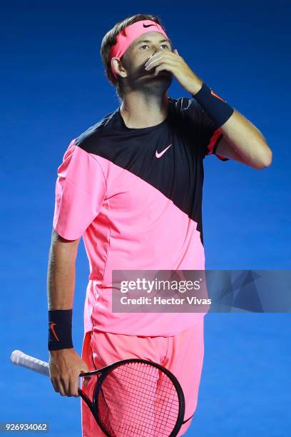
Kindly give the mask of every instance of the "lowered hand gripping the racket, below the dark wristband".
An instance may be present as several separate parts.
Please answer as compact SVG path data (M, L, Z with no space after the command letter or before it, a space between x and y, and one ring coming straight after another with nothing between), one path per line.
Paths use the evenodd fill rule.
M48 368L53 388L61 396L78 397L78 377L90 371L73 348L50 351Z

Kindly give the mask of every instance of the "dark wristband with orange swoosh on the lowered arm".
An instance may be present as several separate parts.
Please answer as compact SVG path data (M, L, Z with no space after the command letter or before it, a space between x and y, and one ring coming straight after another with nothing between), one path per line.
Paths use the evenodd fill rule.
M48 350L73 348L73 309L48 310Z

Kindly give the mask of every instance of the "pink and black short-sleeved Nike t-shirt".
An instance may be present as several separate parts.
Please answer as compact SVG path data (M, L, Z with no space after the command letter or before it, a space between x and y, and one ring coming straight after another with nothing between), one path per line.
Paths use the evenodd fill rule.
M173 336L205 315L113 313L112 271L205 269L203 159L222 137L195 99L168 98L168 117L156 126L128 128L118 108L71 141L53 228L68 240L83 236L85 332Z

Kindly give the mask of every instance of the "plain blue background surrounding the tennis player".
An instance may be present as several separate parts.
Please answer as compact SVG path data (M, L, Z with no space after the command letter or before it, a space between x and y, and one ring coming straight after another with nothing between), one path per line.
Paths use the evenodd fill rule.
M12 367L48 360L46 269L56 169L71 139L116 109L99 49L117 21L160 16L190 67L257 126L272 166L205 159L206 268L290 268L289 1L20 2L1 11L0 421L48 421L81 436L79 399ZM175 81L170 96L187 96ZM288 209L288 210L287 210ZM289 212L289 214L287 214ZM289 224L289 226L288 226ZM73 338L81 353L88 261L80 243ZM209 314L188 436L290 436L290 314Z

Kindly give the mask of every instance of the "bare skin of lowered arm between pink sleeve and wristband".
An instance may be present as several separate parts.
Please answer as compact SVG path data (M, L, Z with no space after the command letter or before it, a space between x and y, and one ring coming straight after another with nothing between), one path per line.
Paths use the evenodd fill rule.
M78 242L59 238L53 231L48 260L48 310L73 308Z

